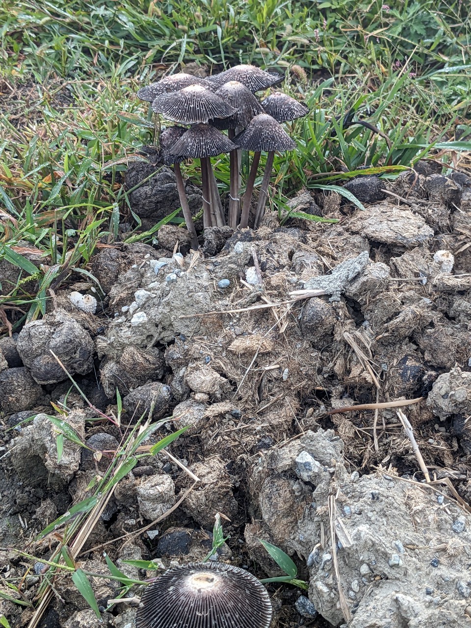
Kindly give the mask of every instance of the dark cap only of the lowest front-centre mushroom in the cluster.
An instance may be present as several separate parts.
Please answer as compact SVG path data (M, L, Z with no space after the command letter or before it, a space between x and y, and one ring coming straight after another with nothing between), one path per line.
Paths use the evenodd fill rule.
M235 150L236 144L209 124L193 124L171 149L183 158L215 157Z

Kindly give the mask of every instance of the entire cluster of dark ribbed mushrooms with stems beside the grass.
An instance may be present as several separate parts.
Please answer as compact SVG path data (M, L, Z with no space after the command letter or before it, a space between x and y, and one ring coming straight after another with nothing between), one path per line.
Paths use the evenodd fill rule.
M274 153L290 151L296 144L284 131L283 122L305 116L308 108L274 91L260 101L256 92L273 88L283 75L265 72L254 65L236 65L207 78L178 73L146 85L138 91L152 110L177 126L160 134L159 161L175 170L178 195L192 246L198 247L193 217L185 196L180 162L199 159L203 192L203 228L228 224L233 229L249 225L249 214L261 153L267 153L254 228L264 215ZM185 126L189 126L187 129ZM222 133L227 131L227 135ZM246 181L241 209L240 149L252 151L252 165ZM227 222L212 170L211 157L229 153L230 184Z

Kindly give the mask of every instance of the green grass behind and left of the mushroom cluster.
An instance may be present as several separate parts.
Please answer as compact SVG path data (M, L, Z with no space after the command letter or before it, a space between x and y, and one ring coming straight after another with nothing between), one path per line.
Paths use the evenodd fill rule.
M134 94L183 63L287 70L283 89L310 107L289 127L298 149L275 159L274 210L359 169L394 176L431 151L447 163L471 149L471 21L459 1L2 0L0 24L0 264L21 270L0 279L0 308L14 328L43 315L48 290L72 273L93 281L97 247L153 242L158 225L141 228L123 185L136 149L154 141ZM347 112L381 134L344 128ZM222 193L228 161L214 160ZM184 170L200 181L193 163Z

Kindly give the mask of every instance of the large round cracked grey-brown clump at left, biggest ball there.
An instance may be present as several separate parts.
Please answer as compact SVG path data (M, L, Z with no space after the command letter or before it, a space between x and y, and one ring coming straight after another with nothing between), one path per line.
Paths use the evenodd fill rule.
M90 334L64 310L56 310L23 327L18 335L18 353L38 384L56 384L67 379L57 359L70 375L93 368L94 344Z

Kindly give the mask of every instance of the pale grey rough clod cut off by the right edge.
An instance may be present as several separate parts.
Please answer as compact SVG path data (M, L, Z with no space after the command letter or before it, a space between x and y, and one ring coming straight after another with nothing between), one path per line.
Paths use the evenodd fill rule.
M471 373L455 367L437 377L427 405L441 420L452 414L471 413Z

